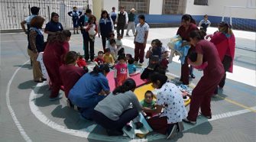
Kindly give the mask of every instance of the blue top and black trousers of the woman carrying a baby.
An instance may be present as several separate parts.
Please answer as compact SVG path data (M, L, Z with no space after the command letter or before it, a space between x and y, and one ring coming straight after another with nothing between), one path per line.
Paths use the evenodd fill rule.
M89 17L83 15L79 18L79 26L81 28L81 33L83 34L83 50L86 61L91 59L94 60L94 40L89 37L88 31L83 29L88 25ZM88 29L89 30L89 29Z

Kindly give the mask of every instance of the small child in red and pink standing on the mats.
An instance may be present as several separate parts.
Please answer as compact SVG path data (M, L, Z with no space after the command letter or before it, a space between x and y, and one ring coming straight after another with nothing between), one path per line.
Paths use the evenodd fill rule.
M128 79L128 68L126 64L126 57L125 55L118 56L118 63L115 65L115 87L122 86L122 83Z

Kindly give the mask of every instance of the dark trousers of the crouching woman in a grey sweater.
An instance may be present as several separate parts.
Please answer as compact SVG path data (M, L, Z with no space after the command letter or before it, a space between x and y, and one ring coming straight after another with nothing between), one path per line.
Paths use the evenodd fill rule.
M109 129L112 131L122 131L122 127L125 126L129 121L136 118L138 116L138 110L136 108L131 108L122 113L119 116L117 121L112 121L107 118L101 112L94 110L92 118L96 121L97 124L101 125L105 129Z

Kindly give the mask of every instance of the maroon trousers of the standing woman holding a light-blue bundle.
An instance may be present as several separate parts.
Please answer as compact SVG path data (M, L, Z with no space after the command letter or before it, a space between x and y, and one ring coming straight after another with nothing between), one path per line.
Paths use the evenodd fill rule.
M189 85L190 83L190 67L187 63L187 56L185 58L184 64L181 65L180 81L183 83L183 85Z

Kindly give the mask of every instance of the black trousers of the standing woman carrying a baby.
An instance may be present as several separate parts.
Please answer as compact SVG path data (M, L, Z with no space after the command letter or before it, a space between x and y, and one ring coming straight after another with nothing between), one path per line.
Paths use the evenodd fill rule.
M94 41L83 34L83 47L85 52L85 59L86 60L94 60Z

